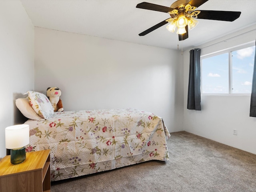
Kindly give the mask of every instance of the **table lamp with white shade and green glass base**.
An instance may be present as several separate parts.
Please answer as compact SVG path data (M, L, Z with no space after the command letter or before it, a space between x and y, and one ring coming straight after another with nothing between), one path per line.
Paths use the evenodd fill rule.
M5 147L10 149L11 163L19 164L26 159L25 146L29 144L29 125L20 124L5 128Z

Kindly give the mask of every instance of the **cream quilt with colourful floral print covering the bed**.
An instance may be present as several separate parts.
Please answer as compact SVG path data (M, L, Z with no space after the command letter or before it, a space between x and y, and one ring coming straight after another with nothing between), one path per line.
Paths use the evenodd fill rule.
M27 120L26 152L51 150L51 180L112 170L148 160L169 160L170 134L162 118L137 109L55 112Z

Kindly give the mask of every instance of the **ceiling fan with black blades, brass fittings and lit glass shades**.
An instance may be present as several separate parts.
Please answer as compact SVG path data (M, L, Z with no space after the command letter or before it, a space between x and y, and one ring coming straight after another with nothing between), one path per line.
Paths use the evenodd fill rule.
M157 28L169 23L166 27L170 32L174 32L178 28L177 34L179 40L188 38L188 28L192 30L197 24L197 19L209 19L219 21L234 21L239 18L241 12L238 11L212 11L212 10L195 10L200 5L208 0L177 0L170 7L142 2L137 4L136 8L160 11L170 14L170 18L152 26L151 28L140 33L139 36L144 36Z

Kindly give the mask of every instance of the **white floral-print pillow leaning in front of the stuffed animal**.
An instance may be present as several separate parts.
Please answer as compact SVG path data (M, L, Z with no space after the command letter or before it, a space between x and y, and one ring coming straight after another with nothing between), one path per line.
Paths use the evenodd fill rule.
M28 100L34 111L42 118L50 119L54 114L49 99L42 93L36 91L28 91Z

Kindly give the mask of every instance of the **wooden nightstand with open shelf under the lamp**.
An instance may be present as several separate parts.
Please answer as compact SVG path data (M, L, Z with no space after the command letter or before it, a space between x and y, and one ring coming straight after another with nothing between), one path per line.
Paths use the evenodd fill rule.
M26 153L26 160L13 165L10 155L0 161L1 192L50 192L50 150Z

